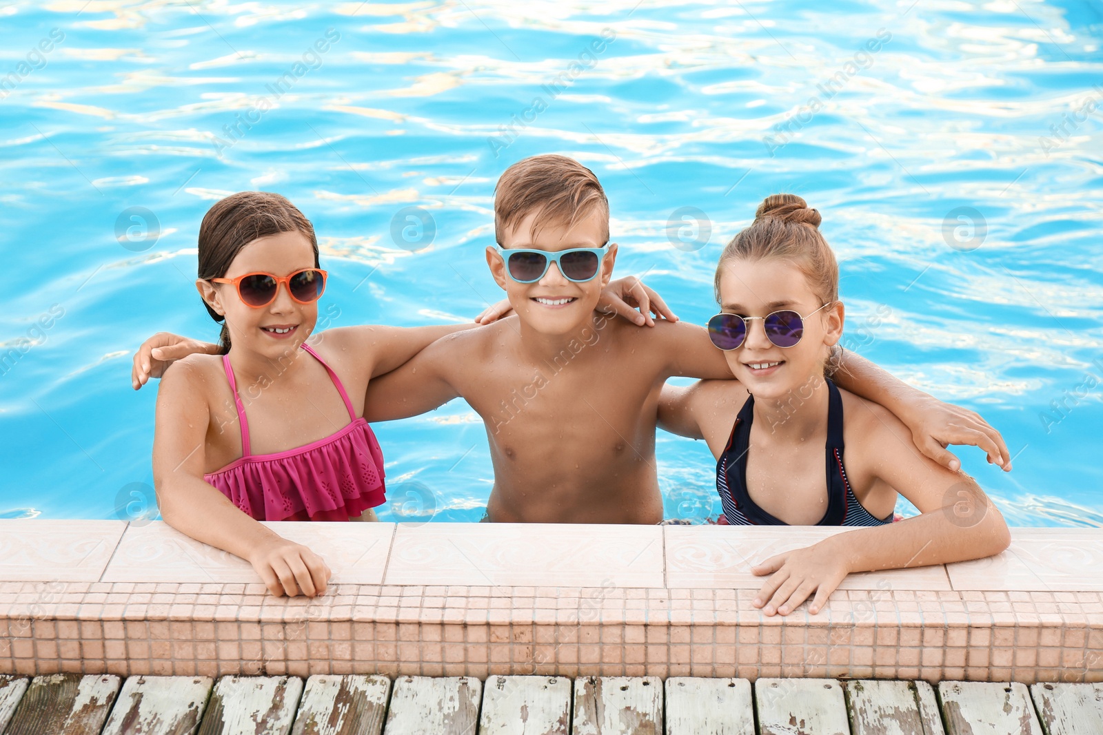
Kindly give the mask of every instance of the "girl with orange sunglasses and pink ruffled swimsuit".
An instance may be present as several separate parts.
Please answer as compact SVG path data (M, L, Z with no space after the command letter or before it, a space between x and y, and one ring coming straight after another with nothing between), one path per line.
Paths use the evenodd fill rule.
M282 196L242 192L215 204L200 227L195 284L224 323L219 345L173 363L157 399L161 517L248 560L276 595L324 592L330 570L260 521L375 520L385 486L362 417L368 381L475 327L342 327L308 345L326 277L313 227Z

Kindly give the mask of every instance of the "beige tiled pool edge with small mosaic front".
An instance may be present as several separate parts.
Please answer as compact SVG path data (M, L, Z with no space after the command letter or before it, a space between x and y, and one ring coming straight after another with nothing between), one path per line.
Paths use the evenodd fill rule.
M861 575L848 584L865 588L836 592L826 613L768 618L750 604L757 581L732 566L741 544L772 548L764 529L296 525L315 536L334 584L289 599L224 581L251 579L251 569L163 525L111 523L0 521L0 672L1103 681L1095 531L1015 529L1011 549L981 574L973 563ZM92 543L97 532L109 550ZM804 538L797 545L822 538L789 533ZM66 562L67 538L83 556ZM534 554L547 563L534 568ZM94 556L101 566L87 565ZM1034 588L999 590L1022 581L1024 560L1032 579L1020 586ZM186 581L192 568L219 579ZM526 574L540 584L517 584ZM419 575L463 584L417 584Z

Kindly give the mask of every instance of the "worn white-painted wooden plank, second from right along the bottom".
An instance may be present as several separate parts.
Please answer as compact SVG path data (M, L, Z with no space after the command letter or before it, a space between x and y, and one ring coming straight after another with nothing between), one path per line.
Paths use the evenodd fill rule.
M939 682L949 735L1042 735L1027 685L1017 681Z

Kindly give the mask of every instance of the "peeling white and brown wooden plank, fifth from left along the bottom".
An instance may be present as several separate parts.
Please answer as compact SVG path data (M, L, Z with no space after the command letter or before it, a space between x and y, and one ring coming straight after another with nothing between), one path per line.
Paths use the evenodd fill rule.
M315 674L307 680L291 735L379 735L389 694L383 675Z

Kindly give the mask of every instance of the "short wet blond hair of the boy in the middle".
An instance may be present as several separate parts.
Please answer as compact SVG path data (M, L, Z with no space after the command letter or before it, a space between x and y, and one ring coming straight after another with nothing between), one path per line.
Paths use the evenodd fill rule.
M593 172L566 155L534 155L505 170L494 188L494 239L504 246L505 229L515 227L533 212L539 214L529 236L535 239L547 225L572 227L598 207L609 241L609 199Z

